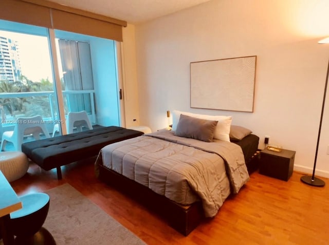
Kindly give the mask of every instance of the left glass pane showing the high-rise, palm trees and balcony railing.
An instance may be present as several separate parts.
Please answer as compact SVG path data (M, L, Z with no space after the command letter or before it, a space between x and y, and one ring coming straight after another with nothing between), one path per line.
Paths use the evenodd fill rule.
M0 53L4 56L0 61L4 67L0 68L3 126L13 125L19 117L41 115L45 120L56 119L48 37L8 30L0 31L0 36L3 40Z

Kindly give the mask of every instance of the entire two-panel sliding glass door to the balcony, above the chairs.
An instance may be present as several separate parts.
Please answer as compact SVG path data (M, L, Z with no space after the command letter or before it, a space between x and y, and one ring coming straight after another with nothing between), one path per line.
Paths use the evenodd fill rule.
M119 126L116 54L113 40L0 20L0 133L41 115L57 136L77 111L94 127Z

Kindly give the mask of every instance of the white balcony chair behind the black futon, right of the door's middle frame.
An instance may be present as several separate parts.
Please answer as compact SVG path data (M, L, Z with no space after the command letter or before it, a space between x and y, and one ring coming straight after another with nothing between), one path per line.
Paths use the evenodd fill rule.
M72 134L73 128L75 127L77 127L79 132L82 131L82 127L93 129L92 123L90 123L87 112L85 110L79 112L68 112L66 120L67 134Z

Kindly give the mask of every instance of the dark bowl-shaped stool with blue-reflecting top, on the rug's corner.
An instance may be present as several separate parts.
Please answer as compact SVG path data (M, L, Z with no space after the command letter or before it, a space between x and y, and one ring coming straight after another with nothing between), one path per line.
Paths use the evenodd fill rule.
M10 214L15 244L56 244L51 234L42 228L49 210L49 196L33 193L19 198L23 208Z

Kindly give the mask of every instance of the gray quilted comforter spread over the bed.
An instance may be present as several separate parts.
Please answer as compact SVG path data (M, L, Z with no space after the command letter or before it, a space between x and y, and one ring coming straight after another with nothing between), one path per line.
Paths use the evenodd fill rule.
M240 146L177 137L172 131L107 145L100 159L104 166L177 203L201 200L206 217L215 216L230 191L238 193L249 180Z

